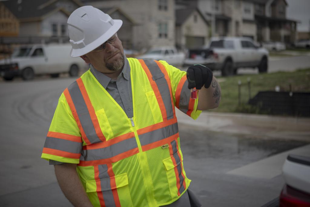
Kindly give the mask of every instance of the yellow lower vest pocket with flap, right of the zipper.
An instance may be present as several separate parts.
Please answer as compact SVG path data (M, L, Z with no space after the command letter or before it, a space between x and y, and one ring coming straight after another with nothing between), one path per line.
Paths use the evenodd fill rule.
M166 168L172 200L180 196L186 189L185 179L187 178L183 173L183 157L179 156L178 152L162 160ZM175 157L179 157L179 160Z

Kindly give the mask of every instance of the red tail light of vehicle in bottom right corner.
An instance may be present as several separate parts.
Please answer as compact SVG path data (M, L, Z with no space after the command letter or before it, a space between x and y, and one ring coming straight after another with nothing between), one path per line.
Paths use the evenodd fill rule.
M310 194L285 185L280 195L280 207L310 207Z

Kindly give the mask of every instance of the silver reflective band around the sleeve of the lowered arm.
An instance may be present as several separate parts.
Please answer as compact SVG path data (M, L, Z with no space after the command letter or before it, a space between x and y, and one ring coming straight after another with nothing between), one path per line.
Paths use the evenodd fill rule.
M55 137L46 137L44 147L70 153L81 153L82 142L72 142L70 140Z

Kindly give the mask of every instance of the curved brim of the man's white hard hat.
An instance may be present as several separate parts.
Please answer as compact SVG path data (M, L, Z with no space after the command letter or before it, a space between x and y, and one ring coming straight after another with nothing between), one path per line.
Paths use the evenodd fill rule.
M114 25L111 26L111 28L108 30L108 32L104 33L102 36L100 36L98 39L96 39L94 42L86 45L86 47L79 48L79 49L71 49L70 56L71 57L79 57L82 55L85 55L95 48L102 45L104 42L106 42L109 38L111 38L122 26L123 21L122 20L114 20Z

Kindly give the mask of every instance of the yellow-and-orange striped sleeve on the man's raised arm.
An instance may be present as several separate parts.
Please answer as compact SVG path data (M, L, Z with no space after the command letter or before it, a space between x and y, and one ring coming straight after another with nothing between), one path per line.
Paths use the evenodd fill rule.
M186 72L169 65L166 61L159 62L165 66L170 77L175 107L193 119L197 119L201 114L201 110L197 110L198 96L197 99L191 98L191 91L187 87L188 81L186 78Z

